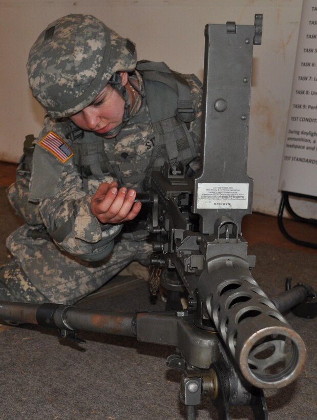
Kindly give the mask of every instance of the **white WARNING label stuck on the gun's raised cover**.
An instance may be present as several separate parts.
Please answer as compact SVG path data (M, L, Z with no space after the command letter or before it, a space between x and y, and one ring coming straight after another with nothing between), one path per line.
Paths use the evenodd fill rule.
M198 183L197 208L248 208L249 184Z

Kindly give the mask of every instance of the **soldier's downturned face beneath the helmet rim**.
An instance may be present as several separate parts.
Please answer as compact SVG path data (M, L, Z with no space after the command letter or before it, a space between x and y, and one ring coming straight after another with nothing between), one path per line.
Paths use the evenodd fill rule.
M125 75L126 73L121 74L123 86L128 80L127 77L125 80ZM107 133L121 124L124 104L124 99L119 92L107 85L90 105L72 115L70 119L82 130L94 131L98 134Z

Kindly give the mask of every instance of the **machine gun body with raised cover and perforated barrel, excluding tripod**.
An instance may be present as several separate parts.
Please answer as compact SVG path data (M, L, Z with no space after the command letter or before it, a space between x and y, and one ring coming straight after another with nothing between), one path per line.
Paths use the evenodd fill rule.
M246 167L252 45L259 20L256 15L254 27L205 28L201 170L195 179L187 178L181 165L177 171L165 164L153 173L158 200L152 232L160 235L151 262L163 268L167 289L179 289L177 272L190 309L200 310L196 325L218 330L250 384L278 388L299 375L306 350L252 278L255 257L247 255L241 235L252 203Z

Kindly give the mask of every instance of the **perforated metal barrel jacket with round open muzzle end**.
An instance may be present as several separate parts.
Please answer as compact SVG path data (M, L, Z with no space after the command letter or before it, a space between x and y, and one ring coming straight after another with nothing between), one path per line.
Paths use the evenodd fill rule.
M306 348L237 256L207 262L198 293L245 379L281 388L300 374Z

